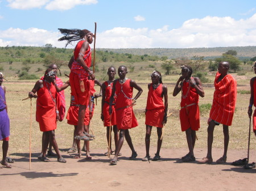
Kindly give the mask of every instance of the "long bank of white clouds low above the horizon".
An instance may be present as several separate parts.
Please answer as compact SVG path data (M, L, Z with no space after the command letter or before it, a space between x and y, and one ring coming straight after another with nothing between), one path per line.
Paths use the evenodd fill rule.
M97 33L96 48L195 48L216 46L255 46L256 14L248 19L206 16L189 19L180 28L115 27ZM58 42L60 33L38 28L9 28L0 31L0 46L43 46L47 43L64 47ZM68 48L74 48L69 45Z

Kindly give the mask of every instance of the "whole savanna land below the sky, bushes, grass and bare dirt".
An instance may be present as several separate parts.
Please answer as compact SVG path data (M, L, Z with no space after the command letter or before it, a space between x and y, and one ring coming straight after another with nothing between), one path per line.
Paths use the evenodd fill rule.
M67 120L58 122L56 141L66 164L57 163L50 158L49 163L40 162L37 156L41 150L42 132L35 121L36 99L27 99L36 80L44 74L50 63L59 66L58 76L63 82L68 80L68 61L72 49L54 48L50 44L44 47L12 46L0 48L0 72L5 74L3 85L6 87L6 101L11 122L9 156L15 160L13 168L0 169L2 189L6 190L255 190L253 178L256 169L243 169L230 165L234 160L247 157L249 117L247 108L250 99L250 79L255 76L252 69L256 46L199 49L148 50L147 49L100 49L96 51L96 79L104 82L109 66L118 68L127 66L127 77L135 80L142 87L143 93L134 106L139 126L130 131L131 138L138 152L137 160L129 160L131 154L125 142L118 164L109 165L108 156L104 156L106 146L105 128L100 118L101 97L97 99L91 124L96 138L90 142L92 160L73 159L75 154L68 154L72 146L73 126ZM159 56L154 54L158 50ZM230 51L231 50L231 51ZM126 51L126 52L124 52ZM154 52L154 53L152 53ZM213 53L214 52L214 53ZM175 56L176 55L176 56ZM93 56L92 56L93 57ZM199 160L207 154L207 120L212 104L213 81L218 61L228 60L231 63L230 73L237 80L237 105L233 124L229 128L230 141L227 163L217 165L182 163L181 156L188 152L185 133L180 130L179 108L180 94L172 96L181 65L191 65L193 76L203 83L205 97L200 98L200 130L197 132L195 157ZM172 113L164 129L163 145L158 162L142 162L146 154L144 148L144 109L147 101L147 84L151 82L150 74L159 70L163 83L168 88L168 109ZM116 74L116 78L118 75ZM96 86L96 91L100 88ZM70 88L65 90L67 109L70 103ZM136 94L136 91L134 91ZM32 104L32 113L31 105ZM30 117L31 128L31 169L30 152ZM156 129L152 129L150 154L156 151ZM222 126L216 126L213 140L214 162L222 156L224 137ZM256 160L256 138L251 131L250 160ZM0 151L2 156L2 150ZM113 155L112 155L113 157Z

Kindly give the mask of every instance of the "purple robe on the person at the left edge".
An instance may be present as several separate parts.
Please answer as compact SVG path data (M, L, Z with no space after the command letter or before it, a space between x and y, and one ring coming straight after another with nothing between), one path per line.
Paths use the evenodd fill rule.
M10 136L10 120L6 112L5 91L0 86L0 140Z

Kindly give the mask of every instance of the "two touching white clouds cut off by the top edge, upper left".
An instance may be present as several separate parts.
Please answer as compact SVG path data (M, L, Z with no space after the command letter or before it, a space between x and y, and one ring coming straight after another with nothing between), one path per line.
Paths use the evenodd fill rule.
M34 9L44 7L47 10L69 10L77 5L97 4L97 0L7 0L13 9Z

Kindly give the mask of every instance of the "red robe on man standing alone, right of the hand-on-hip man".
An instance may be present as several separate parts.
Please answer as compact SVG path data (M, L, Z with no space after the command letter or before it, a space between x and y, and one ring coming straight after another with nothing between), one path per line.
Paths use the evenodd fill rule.
M154 90L152 83L150 84L150 89L147 94L147 112L146 112L146 125L156 126L158 128L163 128L163 118L164 118L164 103L163 97L161 96L163 92L162 84Z

